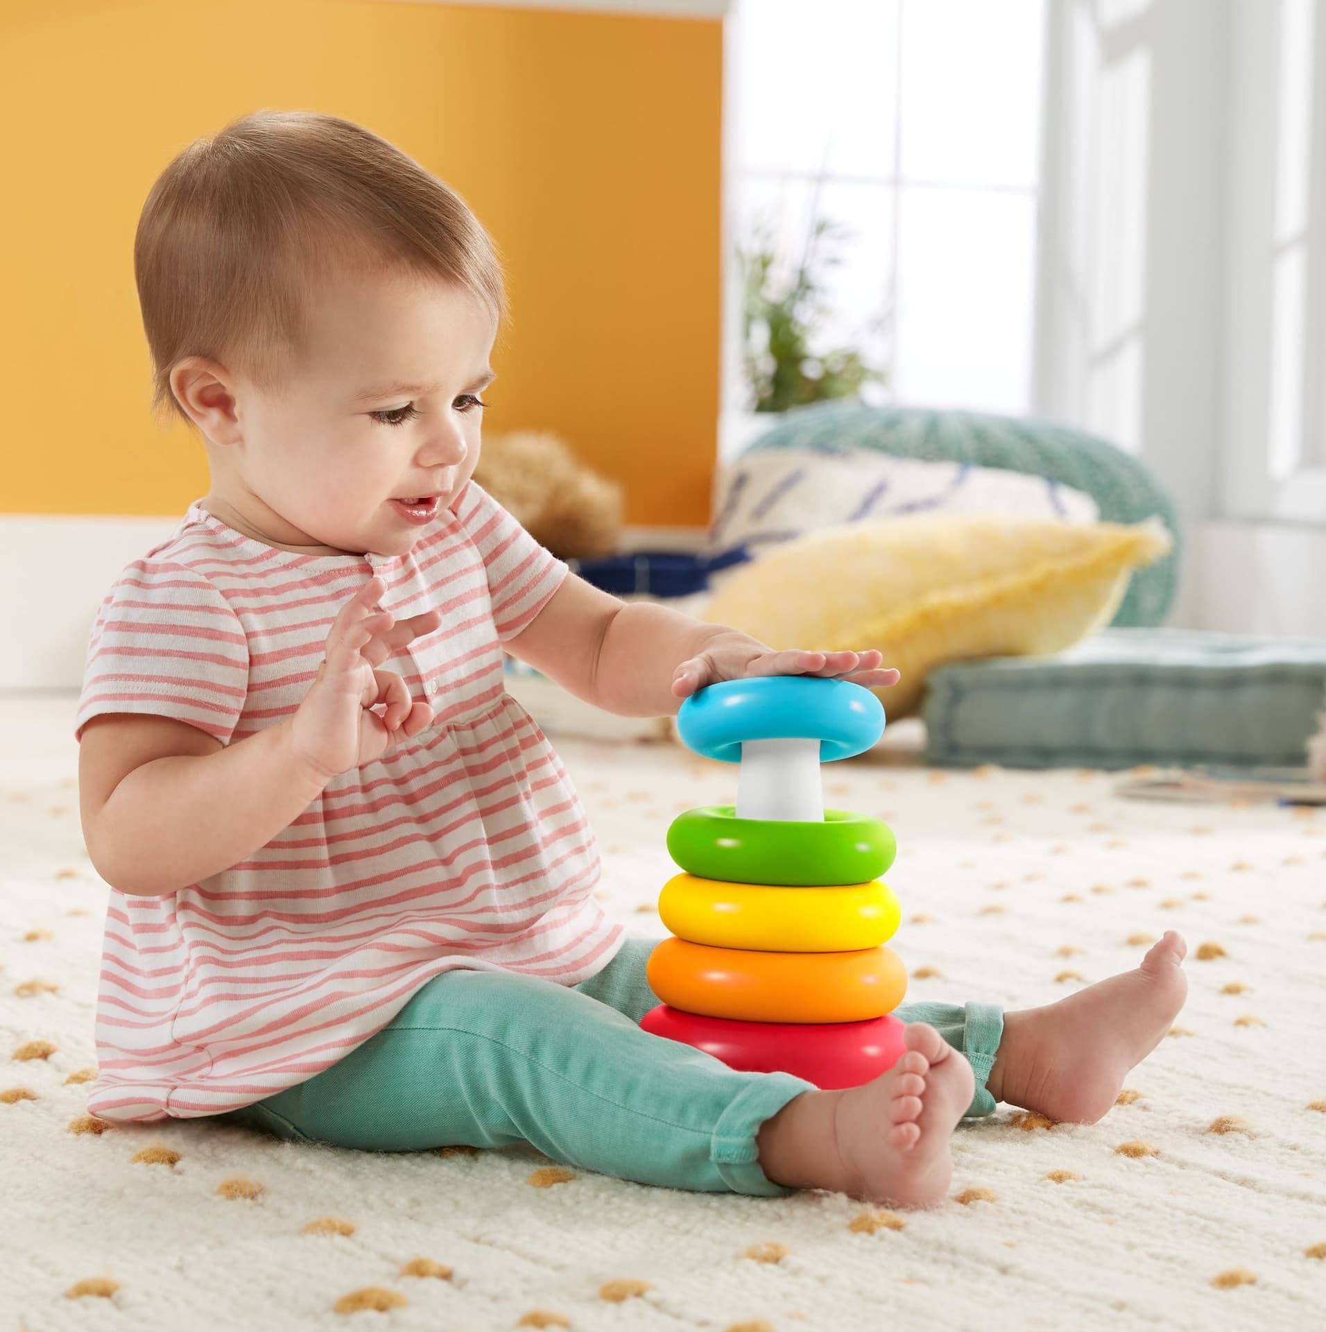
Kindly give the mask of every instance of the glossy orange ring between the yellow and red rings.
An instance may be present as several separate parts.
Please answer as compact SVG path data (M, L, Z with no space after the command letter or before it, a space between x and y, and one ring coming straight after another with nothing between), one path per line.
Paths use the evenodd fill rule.
M746 1022L861 1022L892 1012L907 971L891 948L751 952L664 939L644 968L666 1004Z

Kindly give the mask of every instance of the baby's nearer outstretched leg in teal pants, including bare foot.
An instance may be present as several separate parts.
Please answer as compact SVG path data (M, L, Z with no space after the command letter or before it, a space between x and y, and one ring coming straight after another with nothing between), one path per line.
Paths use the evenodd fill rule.
M913 1044L943 1047L929 1028L911 1031ZM931 1070L921 1048L867 1088L821 1092L789 1074L731 1070L575 988L458 970L425 983L330 1068L228 1118L379 1151L529 1142L672 1188L925 1203L947 1188L948 1135L971 1072L960 1059ZM967 1084L955 1091L956 1067ZM795 1114L781 1115L789 1104Z

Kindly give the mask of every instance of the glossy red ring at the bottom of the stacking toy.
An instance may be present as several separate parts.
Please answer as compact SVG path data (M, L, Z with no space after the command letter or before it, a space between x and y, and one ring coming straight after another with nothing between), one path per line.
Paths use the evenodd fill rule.
M750 1023L706 1018L659 1004L640 1022L667 1036L722 1059L743 1072L788 1072L816 1087L859 1087L887 1072L907 1052L907 1026L892 1014L865 1022Z

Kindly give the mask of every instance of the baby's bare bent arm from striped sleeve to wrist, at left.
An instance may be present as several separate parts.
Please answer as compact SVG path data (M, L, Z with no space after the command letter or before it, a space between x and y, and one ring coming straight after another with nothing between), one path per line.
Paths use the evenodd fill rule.
M188 722L109 713L83 730L83 836L110 887L162 896L265 846L328 781L296 754L289 722L222 746Z

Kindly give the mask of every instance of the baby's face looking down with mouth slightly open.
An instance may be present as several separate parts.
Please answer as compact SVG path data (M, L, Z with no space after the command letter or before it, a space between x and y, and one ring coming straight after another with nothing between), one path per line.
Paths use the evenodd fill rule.
M217 476L213 493L273 545L405 554L478 462L495 336L463 288L337 278L288 382L266 394L237 381L241 437L221 450L233 493ZM441 497L422 526L391 503L421 496Z

